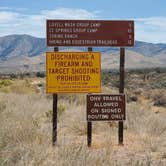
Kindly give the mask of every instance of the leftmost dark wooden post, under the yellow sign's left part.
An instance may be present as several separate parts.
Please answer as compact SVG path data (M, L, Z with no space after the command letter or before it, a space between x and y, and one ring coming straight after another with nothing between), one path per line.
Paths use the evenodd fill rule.
M54 52L58 52L58 47L54 47ZM53 94L53 114L52 114L52 145L55 146L57 142L57 112L58 112L58 94Z

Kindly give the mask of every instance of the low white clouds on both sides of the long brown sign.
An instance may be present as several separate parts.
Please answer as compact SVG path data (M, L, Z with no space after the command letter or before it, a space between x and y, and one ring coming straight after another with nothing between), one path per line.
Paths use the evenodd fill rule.
M0 8L0 36L9 34L30 34L46 36L46 19L98 19L99 11L57 8L42 10L38 14L22 14L21 11ZM135 39L154 43L166 43L166 17L137 18Z

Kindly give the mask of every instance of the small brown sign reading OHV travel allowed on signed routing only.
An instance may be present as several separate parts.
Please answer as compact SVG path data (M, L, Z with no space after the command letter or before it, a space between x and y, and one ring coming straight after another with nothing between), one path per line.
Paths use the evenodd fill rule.
M125 120L125 95L87 95L87 120Z

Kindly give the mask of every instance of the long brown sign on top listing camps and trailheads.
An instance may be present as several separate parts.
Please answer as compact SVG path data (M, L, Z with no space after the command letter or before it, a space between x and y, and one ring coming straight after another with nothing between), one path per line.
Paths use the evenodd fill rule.
M47 20L47 46L134 45L134 21Z

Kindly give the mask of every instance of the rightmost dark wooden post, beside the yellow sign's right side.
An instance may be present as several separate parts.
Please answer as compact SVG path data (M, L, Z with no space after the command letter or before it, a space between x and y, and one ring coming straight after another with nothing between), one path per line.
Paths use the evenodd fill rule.
M125 48L120 48L120 86L119 93L124 93L124 80L125 80ZM119 121L119 145L123 145L123 121Z

